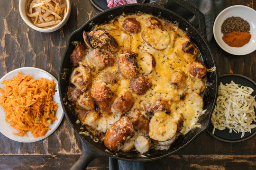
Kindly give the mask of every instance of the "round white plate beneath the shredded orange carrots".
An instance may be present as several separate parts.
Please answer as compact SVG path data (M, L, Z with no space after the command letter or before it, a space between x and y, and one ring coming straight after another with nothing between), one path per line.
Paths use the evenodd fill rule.
M51 130L48 130L45 136L34 138L30 131L27 132L28 137L27 136L14 135L12 132L17 133L18 130L16 130L13 127L10 127L10 125L5 121L5 117L4 117L5 112L3 111L2 106L0 106L0 132L4 136L6 136L9 139L12 139L14 141L18 141L18 142L26 142L26 143L27 142L37 142L37 141L42 140L42 139L48 137L49 135L51 135L57 129L57 127L60 125L60 123L61 123L61 121L64 117L64 112L63 112L63 109L61 107L60 96L59 96L59 92L58 92L58 90L59 90L58 81L54 76L52 76L51 74L49 74L45 70L42 70L42 69L39 69L39 68L26 67L26 68L18 68L18 69L10 71L9 73L4 75L0 79L0 83L2 83L4 80L12 79L13 76L17 76L17 72L19 72L20 74L23 74L23 75L29 75L34 79L41 79L41 78L46 78L46 79L49 79L49 80L54 79L54 81L56 83L55 90L57 90L57 92L54 95L54 101L59 106L58 110L56 112L56 117L57 117L58 120L55 120L54 123L49 126L49 128L51 128ZM1 88L3 88L4 86L5 86L4 84L0 84Z

